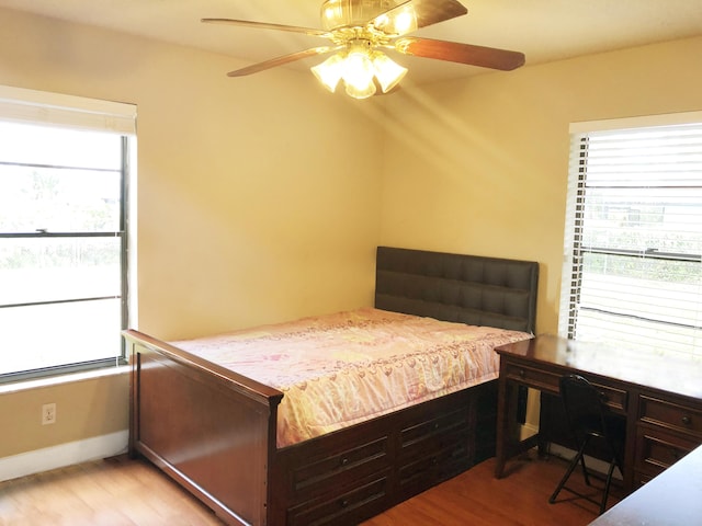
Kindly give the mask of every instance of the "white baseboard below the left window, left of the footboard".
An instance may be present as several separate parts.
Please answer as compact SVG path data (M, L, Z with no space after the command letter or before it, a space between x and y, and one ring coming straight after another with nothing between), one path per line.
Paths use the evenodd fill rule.
M124 430L109 435L0 458L0 482L121 455L127 450L128 435L128 431Z

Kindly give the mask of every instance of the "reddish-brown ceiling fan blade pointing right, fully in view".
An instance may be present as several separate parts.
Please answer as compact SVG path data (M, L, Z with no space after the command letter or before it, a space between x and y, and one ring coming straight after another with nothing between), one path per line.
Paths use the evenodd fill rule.
M435 58L451 62L480 66L482 68L510 71L524 65L524 54L508 52L495 47L474 46L455 42L433 41L406 36L393 44L395 49L405 55Z

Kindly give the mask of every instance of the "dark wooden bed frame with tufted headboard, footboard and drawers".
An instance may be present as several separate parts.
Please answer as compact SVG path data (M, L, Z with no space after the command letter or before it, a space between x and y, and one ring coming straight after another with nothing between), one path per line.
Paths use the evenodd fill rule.
M378 247L375 306L534 331L539 264ZM358 524L495 454L497 380L278 449L283 393L137 331L129 451L231 525Z

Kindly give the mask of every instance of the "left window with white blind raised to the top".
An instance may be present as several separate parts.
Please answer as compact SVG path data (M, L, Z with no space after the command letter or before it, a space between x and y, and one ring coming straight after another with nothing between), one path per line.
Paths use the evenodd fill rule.
M0 379L124 363L134 106L0 87Z

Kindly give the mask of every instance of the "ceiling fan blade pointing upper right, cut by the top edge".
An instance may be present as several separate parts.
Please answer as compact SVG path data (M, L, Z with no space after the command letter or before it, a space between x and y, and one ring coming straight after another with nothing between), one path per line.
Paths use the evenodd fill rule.
M457 0L408 0L377 15L371 23L388 35L401 36L467 12Z

